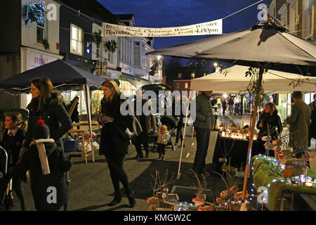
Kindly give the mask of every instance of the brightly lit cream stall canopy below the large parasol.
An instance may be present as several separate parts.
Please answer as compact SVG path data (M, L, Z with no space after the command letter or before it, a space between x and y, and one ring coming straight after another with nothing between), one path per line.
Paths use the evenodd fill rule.
M245 76L249 67L234 65L223 72L214 72L191 80L193 91L213 91L218 94L238 94L246 91L250 76ZM294 87L295 84L298 84ZM266 93L289 93L292 91L316 92L316 77L306 77L289 72L268 70L263 74L263 89Z

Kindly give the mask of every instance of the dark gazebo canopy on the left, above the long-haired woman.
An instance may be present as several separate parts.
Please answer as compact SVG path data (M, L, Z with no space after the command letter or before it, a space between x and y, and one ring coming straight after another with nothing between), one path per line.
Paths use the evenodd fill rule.
M55 60L1 81L0 91L12 94L27 93L31 81L35 77L48 77L51 79L54 88L60 90L81 90L82 85L88 85L93 90L105 81L104 78L77 68L63 60Z

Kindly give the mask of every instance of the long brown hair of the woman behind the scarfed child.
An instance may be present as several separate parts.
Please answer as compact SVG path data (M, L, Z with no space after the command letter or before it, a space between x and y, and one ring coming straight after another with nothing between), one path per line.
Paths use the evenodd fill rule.
M47 77L37 77L32 79L32 84L39 89L39 106L37 111L39 111L45 103L47 103L48 98L51 98L53 92L53 84L51 80Z

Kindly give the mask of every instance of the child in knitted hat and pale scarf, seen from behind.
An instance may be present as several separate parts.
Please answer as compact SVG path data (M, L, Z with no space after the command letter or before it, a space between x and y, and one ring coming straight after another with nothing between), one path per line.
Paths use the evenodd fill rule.
M53 139L49 139L49 128L44 120L37 120L32 129L32 139L29 150L22 155L20 163L11 169L8 176L20 175L29 169L35 208L40 211L59 210L67 203L68 188L64 172L70 170L72 162L62 148ZM41 143L45 147L48 173L44 173L43 162L40 160L38 146Z

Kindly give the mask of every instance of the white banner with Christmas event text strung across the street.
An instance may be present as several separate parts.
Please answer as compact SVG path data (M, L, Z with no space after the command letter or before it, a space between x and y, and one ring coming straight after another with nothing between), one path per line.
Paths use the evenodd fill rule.
M206 23L187 25L183 27L129 27L124 25L114 25L110 23L102 24L103 37L177 37L207 34L222 34L223 20L213 20Z

